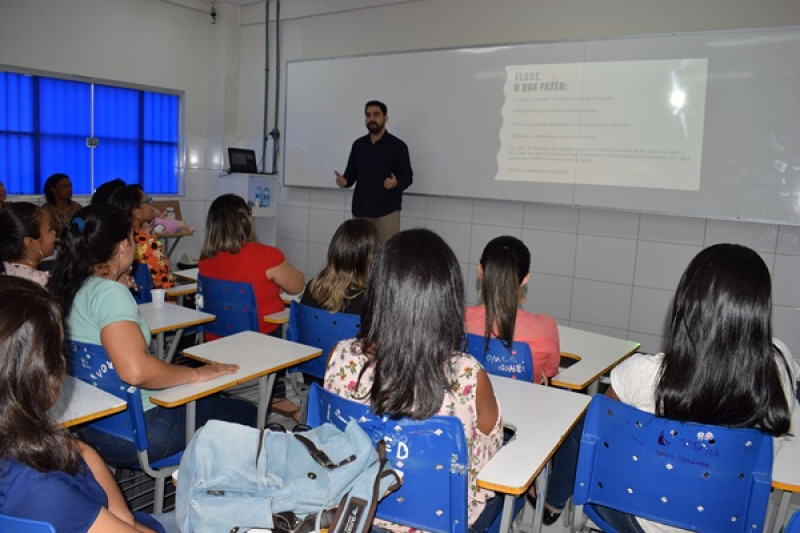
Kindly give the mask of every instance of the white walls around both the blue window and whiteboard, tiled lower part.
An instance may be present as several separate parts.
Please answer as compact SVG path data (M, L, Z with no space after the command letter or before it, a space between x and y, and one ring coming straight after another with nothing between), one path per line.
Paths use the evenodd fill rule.
M800 25L797 0L383 0L385 5L365 8L366 1L284 0L283 60ZM185 91L182 210L200 229L216 194L224 147L249 145L260 151L264 121L264 5L240 10L218 4L213 26L207 5L201 0L0 0L0 64ZM275 66L273 58L273 95ZM360 110L353 120L362 120ZM272 121L270 116L268 128ZM412 163L413 151L412 146ZM330 162L331 176L346 157ZM278 245L307 274L320 268L330 236L349 216L350 194L309 189L279 194ZM533 253L526 307L563 324L638 340L646 350L658 349L662 341L669 299L689 259L709 244L740 242L761 253L770 267L776 334L800 355L799 227L572 209L534 200L420 197L412 187L403 226L430 227L450 243L467 276L471 301L483 245L499 234L520 236ZM201 238L202 232L184 239L179 254L199 250Z

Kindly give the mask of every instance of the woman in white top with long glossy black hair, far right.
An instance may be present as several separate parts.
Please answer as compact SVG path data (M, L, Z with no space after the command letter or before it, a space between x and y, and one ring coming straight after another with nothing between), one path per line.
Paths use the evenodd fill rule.
M771 316L772 286L761 257L736 244L710 246L678 284L665 352L620 364L606 394L665 418L785 435L798 367L772 338ZM681 531L608 513L615 525L620 518L631 523L622 532Z

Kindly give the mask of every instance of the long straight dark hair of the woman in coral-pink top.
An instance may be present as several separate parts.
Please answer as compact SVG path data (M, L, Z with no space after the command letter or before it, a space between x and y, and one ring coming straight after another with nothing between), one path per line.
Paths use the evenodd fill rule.
M481 254L481 296L486 307L484 337L496 336L508 347L514 341L520 285L531 268L528 247L509 235L489 241ZM496 331L493 331L495 329Z

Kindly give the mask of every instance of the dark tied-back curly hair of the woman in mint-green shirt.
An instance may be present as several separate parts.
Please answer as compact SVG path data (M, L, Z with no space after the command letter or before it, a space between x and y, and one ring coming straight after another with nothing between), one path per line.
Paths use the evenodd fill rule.
M130 214L112 205L90 205L75 213L61 235L61 248L47 284L64 318L92 267L107 263L130 234Z

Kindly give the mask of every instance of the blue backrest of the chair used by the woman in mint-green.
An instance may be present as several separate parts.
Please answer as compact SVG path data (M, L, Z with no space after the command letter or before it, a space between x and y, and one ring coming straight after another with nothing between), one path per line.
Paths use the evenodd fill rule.
M65 356L69 374L128 403L124 411L100 418L89 426L132 442L139 451L147 450L147 430L139 387L128 385L119 378L105 348L68 340L65 342Z

